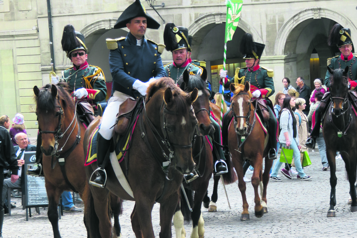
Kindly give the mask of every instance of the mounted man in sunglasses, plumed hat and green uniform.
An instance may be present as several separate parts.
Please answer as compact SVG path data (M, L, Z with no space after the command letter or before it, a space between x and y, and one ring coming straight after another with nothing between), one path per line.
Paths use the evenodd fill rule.
M71 60L73 66L63 71L61 78L52 76L52 83L56 84L59 81L68 83L73 96L90 103L93 110L96 111L97 104L105 100L107 96L105 76L102 69L88 64L88 49L85 45L84 36L80 32L75 31L71 24L64 27L61 44L63 51L66 52L66 56ZM34 176L43 176L41 168L41 144L41 134L38 134L36 149L37 164L27 170L29 174Z

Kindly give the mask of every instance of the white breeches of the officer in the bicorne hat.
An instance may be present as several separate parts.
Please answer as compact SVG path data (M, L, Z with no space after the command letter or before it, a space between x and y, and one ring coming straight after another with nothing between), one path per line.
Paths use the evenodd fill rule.
M121 103L123 103L129 97L129 95L115 91L109 98L108 104L103 113L102 123L98 131L105 140L110 140L113 137L114 125L116 123L116 115L119 112L119 107Z

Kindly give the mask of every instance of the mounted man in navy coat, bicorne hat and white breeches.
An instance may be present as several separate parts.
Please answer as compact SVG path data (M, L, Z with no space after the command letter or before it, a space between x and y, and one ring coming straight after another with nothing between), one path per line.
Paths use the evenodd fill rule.
M145 39L146 28L159 29L160 24L149 14L139 0L128 6L120 15L114 29L127 27L126 37L106 39L109 53L110 72L113 77L112 95L105 108L97 141L96 178L89 183L104 187L106 157L116 123L119 106L127 98L135 99L146 95L149 84L165 77L161 54L165 45Z

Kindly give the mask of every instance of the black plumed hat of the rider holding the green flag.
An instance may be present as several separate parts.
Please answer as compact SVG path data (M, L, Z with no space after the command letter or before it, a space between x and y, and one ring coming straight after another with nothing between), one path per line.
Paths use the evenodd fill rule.
M253 36L249 33L243 35L240 45L240 52L243 59L260 59L265 48L264 44L254 42Z

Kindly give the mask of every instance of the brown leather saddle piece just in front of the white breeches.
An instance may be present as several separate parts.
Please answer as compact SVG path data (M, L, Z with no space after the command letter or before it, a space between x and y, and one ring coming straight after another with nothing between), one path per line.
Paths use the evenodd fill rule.
M117 123L115 125L115 132L119 135L123 135L129 126L130 119L132 118L132 112L136 107L139 100L127 98L119 107L119 112L116 115Z

